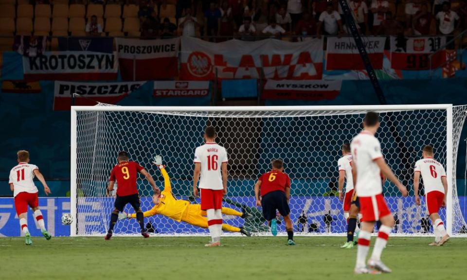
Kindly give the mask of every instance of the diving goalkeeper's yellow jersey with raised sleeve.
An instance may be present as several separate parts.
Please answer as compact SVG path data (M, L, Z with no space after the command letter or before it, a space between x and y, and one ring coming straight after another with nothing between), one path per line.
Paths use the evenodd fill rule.
M190 202L175 198L167 171L162 168L161 172L162 176L164 176L164 190L161 192L161 203L155 205L151 210L145 211L144 217L160 214L180 222ZM136 214L131 214L131 217L136 218Z

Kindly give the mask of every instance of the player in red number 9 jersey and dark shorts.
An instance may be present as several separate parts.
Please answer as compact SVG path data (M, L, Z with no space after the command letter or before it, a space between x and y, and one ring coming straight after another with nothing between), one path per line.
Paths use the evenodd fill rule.
M159 194L160 190L156 187L154 179L152 178L144 167L139 165L135 161L128 160L128 153L120 152L118 153L118 164L115 165L110 173L110 179L108 180L107 195L110 195L110 192L113 191L115 185L115 180L117 180L117 196L115 197L114 207L110 216L110 225L108 228L107 235L105 240L109 240L113 234L113 227L118 220L118 213L123 212L126 204L131 204L133 209L136 212L136 219L140 224L141 235L144 238L148 238L149 234L144 227L144 215L140 207L140 195L138 193L138 188L136 187L136 180L138 178L137 173L141 173L149 181L149 184L152 186L154 194Z

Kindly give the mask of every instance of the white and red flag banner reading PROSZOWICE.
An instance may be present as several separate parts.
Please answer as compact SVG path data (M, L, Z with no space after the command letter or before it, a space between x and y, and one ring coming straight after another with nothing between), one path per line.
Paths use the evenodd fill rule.
M178 75L180 38L115 41L123 80L170 79Z

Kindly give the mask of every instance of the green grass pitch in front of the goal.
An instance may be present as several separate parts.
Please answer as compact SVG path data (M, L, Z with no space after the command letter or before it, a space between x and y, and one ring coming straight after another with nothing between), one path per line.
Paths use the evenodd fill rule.
M431 238L390 238L382 259L394 272L358 276L357 249L340 249L343 237L286 239L224 237L205 248L207 237L0 238L0 279L467 279L467 239L430 247Z

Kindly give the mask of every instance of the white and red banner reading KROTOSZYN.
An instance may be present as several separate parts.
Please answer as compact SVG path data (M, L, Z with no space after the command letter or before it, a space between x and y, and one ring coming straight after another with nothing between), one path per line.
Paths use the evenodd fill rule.
M25 80L114 80L118 63L112 53L46 52L23 57Z

